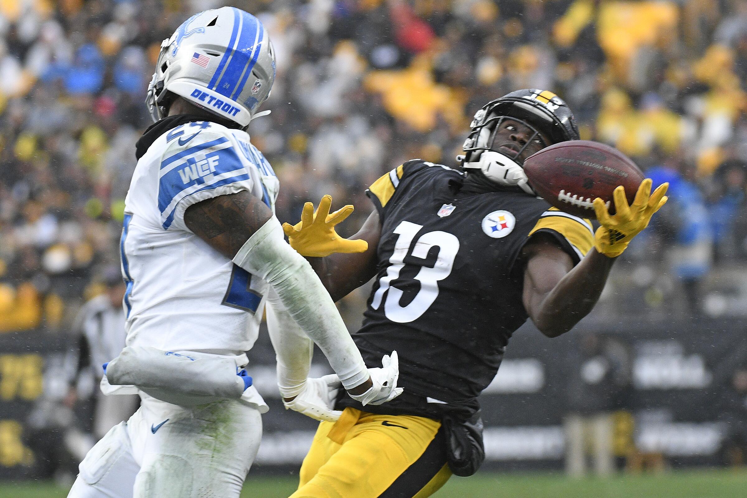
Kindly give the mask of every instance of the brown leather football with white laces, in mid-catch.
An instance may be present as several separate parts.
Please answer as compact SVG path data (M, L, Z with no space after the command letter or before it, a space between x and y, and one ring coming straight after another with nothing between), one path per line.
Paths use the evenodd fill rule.
M613 191L625 187L628 204L635 199L643 173L619 150L591 140L556 143L524 161L530 185L556 208L596 218L592 202L599 197L615 212Z

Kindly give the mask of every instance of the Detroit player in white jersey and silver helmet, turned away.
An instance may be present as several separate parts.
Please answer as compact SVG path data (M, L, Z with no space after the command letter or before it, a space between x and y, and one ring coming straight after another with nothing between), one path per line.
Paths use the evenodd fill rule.
M333 382L364 404L401 392L396 353L365 367L274 217L277 178L244 131L274 78L267 31L234 7L190 17L161 45L146 99L156 122L137 143L120 240L127 347L102 381L136 391L142 405L81 462L69 497L238 498L267 411L241 376L266 300L287 408L335 420L325 398ZM306 379L311 342L302 331L336 376ZM238 394L194 396L214 373L202 367L191 382L198 364L228 364ZM153 382L164 388L146 389Z

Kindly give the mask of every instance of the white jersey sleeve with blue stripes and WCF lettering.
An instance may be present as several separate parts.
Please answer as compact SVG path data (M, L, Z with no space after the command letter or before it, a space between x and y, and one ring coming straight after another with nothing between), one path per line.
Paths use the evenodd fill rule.
M269 205L256 167L237 150L227 131L205 130L183 145L181 137L172 140L158 171L158 211L164 230L189 231L184 214L190 205L241 190Z

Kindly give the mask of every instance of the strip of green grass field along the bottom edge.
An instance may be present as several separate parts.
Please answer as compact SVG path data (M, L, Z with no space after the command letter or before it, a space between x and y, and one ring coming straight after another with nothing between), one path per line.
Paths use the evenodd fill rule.
M295 478L249 478L242 497L285 498ZM557 474L485 474L453 477L436 498L741 498L747 472L696 470L610 479L570 480ZM0 498L64 498L66 489L43 483L0 485ZM164 497L179 498L179 497Z

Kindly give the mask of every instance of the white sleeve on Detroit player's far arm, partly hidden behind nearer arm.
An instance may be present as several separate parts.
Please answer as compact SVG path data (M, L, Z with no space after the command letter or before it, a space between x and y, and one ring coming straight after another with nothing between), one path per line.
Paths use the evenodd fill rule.
M283 306L270 288L267 295L267 332L275 349L278 387L285 398L297 396L309 376L314 343Z

